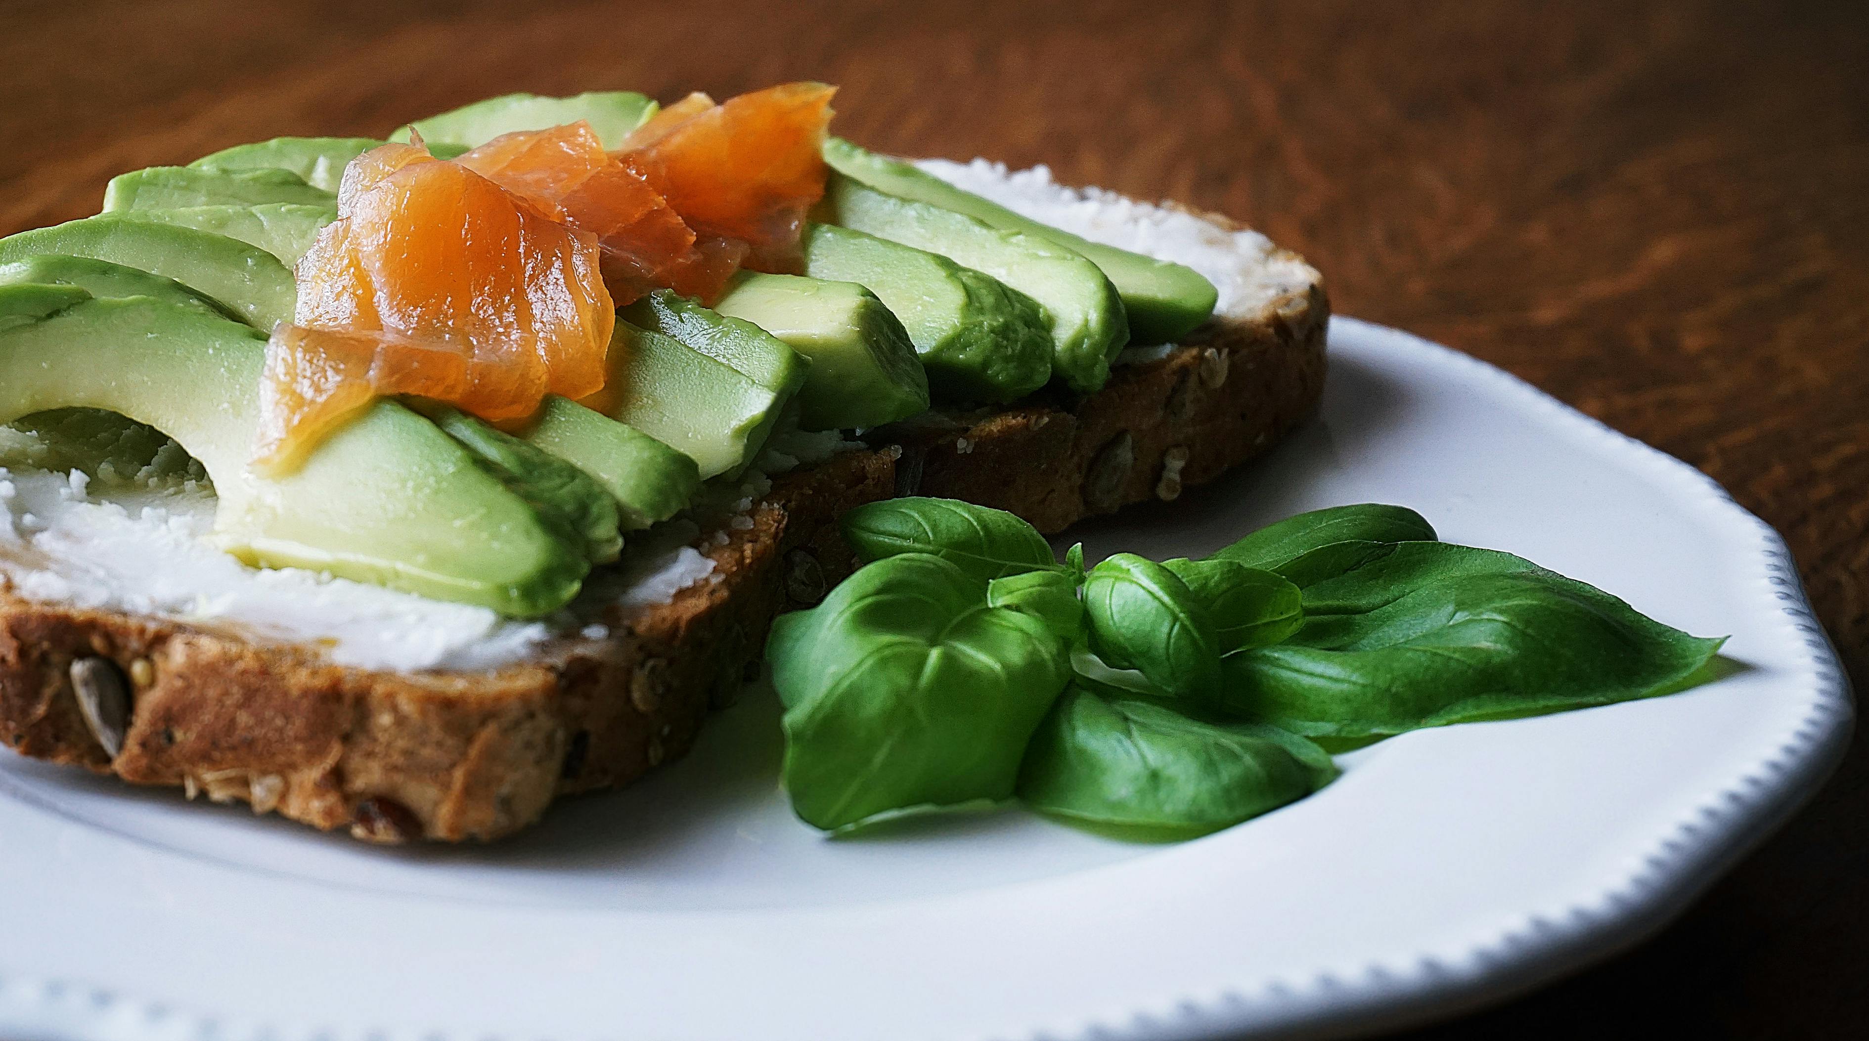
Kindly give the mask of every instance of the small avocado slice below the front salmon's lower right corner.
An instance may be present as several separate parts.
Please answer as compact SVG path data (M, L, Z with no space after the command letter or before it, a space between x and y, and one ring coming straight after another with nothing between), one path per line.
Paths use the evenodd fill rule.
M546 396L521 439L602 484L617 501L624 531L673 518L701 488L701 467L686 454L557 394Z

